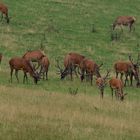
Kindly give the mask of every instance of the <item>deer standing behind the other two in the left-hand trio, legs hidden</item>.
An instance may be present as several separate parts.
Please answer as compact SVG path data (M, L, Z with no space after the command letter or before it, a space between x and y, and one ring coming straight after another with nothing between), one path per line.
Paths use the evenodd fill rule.
M41 59L45 56L45 54L40 50L27 51L23 58L32 62L38 62L38 67L40 66Z

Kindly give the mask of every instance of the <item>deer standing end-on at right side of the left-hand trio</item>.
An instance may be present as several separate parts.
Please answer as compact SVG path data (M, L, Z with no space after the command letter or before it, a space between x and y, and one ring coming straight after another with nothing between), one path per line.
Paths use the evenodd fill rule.
M43 74L43 79L45 79L45 77L46 77L46 80L48 80L48 69L49 69L49 65L50 65L50 61L49 61L48 57L44 56L41 59L40 64L41 64L40 74Z

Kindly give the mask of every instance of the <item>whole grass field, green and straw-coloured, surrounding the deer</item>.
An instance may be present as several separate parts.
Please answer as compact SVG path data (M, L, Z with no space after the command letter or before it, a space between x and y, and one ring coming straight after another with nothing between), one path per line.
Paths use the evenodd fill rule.
M3 0L11 22L0 22L0 139L1 140L139 140L140 89L126 87L124 102L111 100L109 87L104 100L99 91L78 78L64 81L56 74L55 58L63 65L68 52L77 52L103 62L101 75L116 60L134 61L140 52L139 0ZM120 39L111 41L110 25L119 15L136 17L135 31L116 32ZM95 32L92 32L93 26ZM45 37L44 37L45 34ZM44 39L45 38L45 39ZM9 83L8 61L27 50L40 49L50 59L48 81L34 85ZM95 80L95 78L94 78ZM134 82L135 85L135 82ZM78 88L78 94L69 94Z

